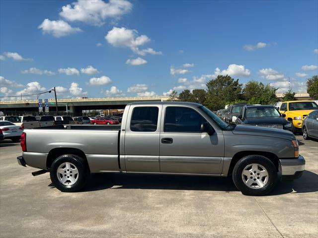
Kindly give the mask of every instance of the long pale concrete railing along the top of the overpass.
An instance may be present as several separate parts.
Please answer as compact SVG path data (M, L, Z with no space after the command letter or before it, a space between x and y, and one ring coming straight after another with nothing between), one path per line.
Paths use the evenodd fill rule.
M101 101L143 101L143 100L161 100L166 101L169 97L125 97L125 98L73 98L73 99L58 99L58 103L73 103L73 102L101 102ZM55 99L50 99L50 103L55 103ZM25 104L38 103L38 100L19 100L19 101L0 101L0 104Z

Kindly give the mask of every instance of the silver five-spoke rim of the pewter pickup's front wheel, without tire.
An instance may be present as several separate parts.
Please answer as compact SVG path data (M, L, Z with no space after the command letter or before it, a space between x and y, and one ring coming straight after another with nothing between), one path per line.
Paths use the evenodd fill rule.
M252 189L264 187L268 182L268 172L260 164L249 164L242 171L244 184Z

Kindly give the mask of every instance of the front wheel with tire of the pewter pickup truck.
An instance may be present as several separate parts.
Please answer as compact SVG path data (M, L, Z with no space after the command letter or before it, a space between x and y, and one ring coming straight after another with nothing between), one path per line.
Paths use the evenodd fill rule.
M277 170L273 162L266 157L248 155L237 162L232 178L242 194L262 196L271 192L275 187Z

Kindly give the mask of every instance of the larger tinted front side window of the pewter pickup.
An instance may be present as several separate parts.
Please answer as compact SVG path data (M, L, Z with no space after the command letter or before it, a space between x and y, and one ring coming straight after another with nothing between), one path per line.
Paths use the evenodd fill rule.
M207 122L206 119L191 108L167 107L163 131L201 133L201 124L204 122Z

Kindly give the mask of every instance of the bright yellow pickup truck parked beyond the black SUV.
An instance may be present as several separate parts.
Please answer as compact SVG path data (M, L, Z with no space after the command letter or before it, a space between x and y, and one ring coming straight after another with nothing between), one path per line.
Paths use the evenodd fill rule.
M292 123L292 131L296 133L302 130L303 119L314 110L318 110L314 101L288 101L282 103L279 112Z

